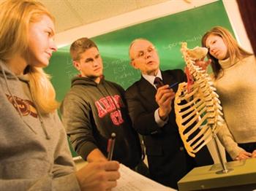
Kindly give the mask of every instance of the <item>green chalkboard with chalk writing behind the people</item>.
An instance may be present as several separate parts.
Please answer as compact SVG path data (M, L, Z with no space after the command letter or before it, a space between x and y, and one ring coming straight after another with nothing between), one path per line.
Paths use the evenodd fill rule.
M224 26L232 31L222 1L149 20L92 39L102 55L105 79L117 82L126 89L140 78L140 72L129 65L128 49L132 40L146 38L153 42L159 52L161 69L184 69L181 42L187 42L190 48L200 46L202 35L213 26ZM70 79L78 74L69 57L69 46L55 52L50 66L45 70L53 77L57 99L62 101L69 90Z

